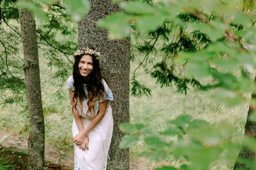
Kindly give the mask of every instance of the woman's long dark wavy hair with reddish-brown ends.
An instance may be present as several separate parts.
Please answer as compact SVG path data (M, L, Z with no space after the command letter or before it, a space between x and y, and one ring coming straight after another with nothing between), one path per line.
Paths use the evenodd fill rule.
M91 48L92 49L92 48ZM94 50L94 49L93 49ZM73 106L72 106L72 111L74 109L76 109L77 113L79 113L78 109L76 108L76 105L78 103L78 100L81 104L81 112L83 111L83 105L82 105L82 101L83 99L85 99L85 91L84 91L84 85L83 85L83 80L84 77L81 76L80 72L79 72L79 62L81 57L84 54L81 55L76 55L75 56L75 62L73 65L73 79L74 79L74 90L73 90ZM86 115L88 116L88 113L90 112L90 119L92 119L94 117L93 113L94 113L94 105L97 101L97 99L99 99L99 97L101 97L103 100L104 99L104 95L105 95L105 88L104 85L102 83L102 79L104 79L102 77L102 69L99 65L99 60L96 59L96 56L93 54L89 54L92 59L93 59L93 70L92 73L90 74L90 79L88 80L88 85L87 85L87 91L88 91L88 111L86 112ZM93 112L92 112L93 109Z

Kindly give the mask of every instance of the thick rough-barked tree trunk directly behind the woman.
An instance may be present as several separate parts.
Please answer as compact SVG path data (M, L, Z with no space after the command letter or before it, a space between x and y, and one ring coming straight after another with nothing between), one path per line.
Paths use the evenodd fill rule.
M130 38L108 40L108 31L97 28L95 22L120 10L111 0L91 0L90 13L78 24L79 48L92 46L101 53L103 76L114 95L114 128L108 170L129 170L129 150L119 149L119 142L125 135L119 130L119 124L129 122Z

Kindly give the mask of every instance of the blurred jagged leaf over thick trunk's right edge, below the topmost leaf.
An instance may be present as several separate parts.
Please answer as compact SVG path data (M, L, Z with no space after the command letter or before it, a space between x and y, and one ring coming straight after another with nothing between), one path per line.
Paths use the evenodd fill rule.
M132 19L133 16L130 14L116 13L97 21L97 26L109 29L109 39L121 39L130 35Z

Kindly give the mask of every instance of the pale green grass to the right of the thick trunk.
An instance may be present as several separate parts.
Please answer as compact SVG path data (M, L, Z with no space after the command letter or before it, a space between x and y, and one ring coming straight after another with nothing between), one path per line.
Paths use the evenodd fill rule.
M131 71L134 70L136 64L131 64ZM162 131L167 127L167 120L175 119L180 114L190 114L194 119L204 119L213 125L223 120L228 120L236 127L236 133L233 136L234 142L241 142L241 137L244 133L244 125L249 107L249 102L242 105L228 108L223 104L214 102L210 95L211 91L198 91L190 88L187 95L177 94L175 86L160 88L160 85L155 84L155 79L151 79L149 75L143 73L143 68L138 71L137 79L143 82L152 90L152 95L137 98L130 96L130 115L131 123L142 123L150 125L156 131ZM210 81L204 79L203 81ZM250 95L248 95L250 96ZM170 139L170 140L175 140ZM137 157L137 153L145 150L145 144L139 142L134 147L131 147L131 161L139 162L141 170L146 170L146 167L160 167L162 165L172 165L179 167L184 160L175 160L172 156L169 159L160 163L154 163L144 158ZM239 152L239 151L238 151ZM237 154L238 154L237 152ZM224 157L212 164L212 170L233 170L234 161L225 162Z

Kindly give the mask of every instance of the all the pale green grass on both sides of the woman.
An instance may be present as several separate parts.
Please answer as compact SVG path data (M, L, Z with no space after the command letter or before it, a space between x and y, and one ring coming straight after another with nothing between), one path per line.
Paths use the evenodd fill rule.
M50 77L49 73L55 69L47 68L46 61L41 58L41 88L43 110L46 127L46 144L53 150L58 150L58 159L66 159L69 155L73 158L72 125L73 115L66 82L58 82ZM136 68L131 63L131 73ZM72 68L70 68L71 71ZM67 77L68 78L68 77ZM227 108L221 103L213 102L210 94L213 91L198 91L191 88L187 95L175 93L175 86L160 88L155 84L155 79L145 75L143 68L137 72L137 79L146 84L152 90L152 95L137 98L130 96L131 123L150 125L154 130L161 131L167 127L167 120L175 119L182 113L190 114L193 118L204 119L212 124L218 124L221 120L228 120L237 128L234 141L240 142L244 133L245 119L248 103L235 108ZM209 81L206 79L204 81ZM23 112L20 105L7 106L0 112L0 129L10 133L28 137L28 113ZM19 134L21 133L21 134ZM172 139L170 139L172 140ZM175 140L175 138L173 138ZM146 167L160 167L162 165L179 166L184 160L175 160L170 156L167 160L154 163L147 159L137 157L137 153L146 149L143 142L139 142L130 149L131 163L140 165L140 169ZM224 155L223 155L224 156ZM131 166L134 166L131 164ZM221 159L212 164L212 170L232 169L233 162L224 162Z

